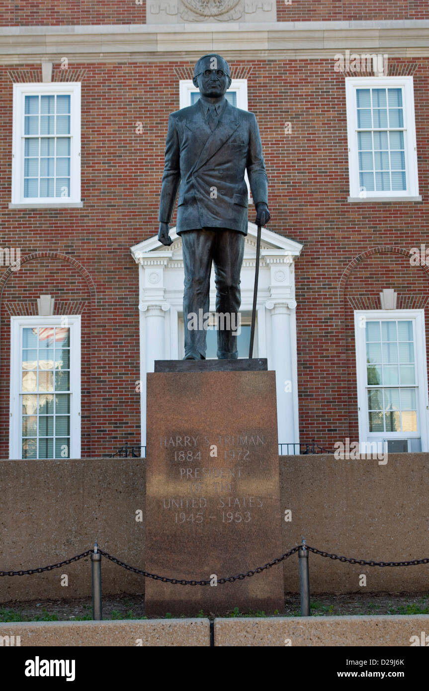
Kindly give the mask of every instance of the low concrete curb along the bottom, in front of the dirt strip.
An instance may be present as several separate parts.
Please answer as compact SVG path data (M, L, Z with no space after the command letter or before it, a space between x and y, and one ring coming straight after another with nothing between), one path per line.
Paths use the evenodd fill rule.
M215 646L400 646L421 642L429 615L214 620ZM6 638L2 638L2 637ZM414 636L414 638L413 638ZM417 636L417 638L416 638ZM208 619L0 624L0 645L209 646Z

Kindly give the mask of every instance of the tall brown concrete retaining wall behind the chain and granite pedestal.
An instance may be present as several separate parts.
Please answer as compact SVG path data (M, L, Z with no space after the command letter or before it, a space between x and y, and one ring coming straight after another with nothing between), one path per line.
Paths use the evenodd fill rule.
M100 547L144 568L144 459L0 461L0 569L28 569ZM341 461L332 455L280 457L283 550L301 542L374 560L429 556L429 454ZM292 510L292 522L283 512ZM273 555L273 558L278 555ZM309 557L313 594L423 591L428 566L375 568ZM257 564L243 564L242 570ZM282 567L274 567L282 568ZM285 591L298 591L298 557L284 563ZM61 587L67 574L68 587ZM366 587L359 585L366 576ZM171 574L174 576L173 567ZM254 578L264 578L258 574ZM103 560L104 594L143 593L144 578ZM180 586L178 586L180 587ZM90 595L90 560L32 576L0 579L0 602Z

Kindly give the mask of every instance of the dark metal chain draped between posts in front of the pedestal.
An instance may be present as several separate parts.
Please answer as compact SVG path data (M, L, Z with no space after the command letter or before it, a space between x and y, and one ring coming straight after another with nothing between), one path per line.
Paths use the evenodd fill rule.
M401 562L376 562L376 561L367 561L365 559L353 559L353 558L348 558L348 557L343 557L339 556L338 554L331 554L330 552L323 551L321 549L316 549L316 547L310 547L309 545L297 545L296 547L292 547L292 549L289 549L289 551L285 552L282 554L282 556L273 559L271 562L267 562L267 564L264 564L263 566L257 567L256 569L251 569L249 571L246 571L245 573L242 574L236 574L236 576L228 576L227 578L218 578L218 583L233 583L234 580L244 580L245 578L250 578L251 576L254 576L255 574L260 574L262 571L265 571L265 569L270 569L272 566L275 566L276 564L280 564L283 560L289 558L294 554L295 552L298 551L298 549L308 549L308 551L313 552L314 554L318 554L322 557L327 557L330 559L338 559L341 562L347 562L349 564L359 564L360 566L379 566L379 567L385 567L385 566L416 566L419 564L429 564L429 558L425 559L413 559L411 561L401 561ZM122 562L120 559L117 559L116 557L113 557L111 554L108 552L105 552L102 549L98 549L98 552L102 554L102 556L106 557L106 559L110 560L114 564L117 564L118 566L122 567L123 569L126 569L127 571L132 571L133 574L138 574L139 576L144 576L145 578L153 578L154 580L161 580L162 583L177 583L178 585L209 585L211 582L210 580L185 580L185 579L180 579L180 578L167 578L167 576L159 576L158 574L151 574L149 571L144 571L143 569L136 569L133 566L130 566L129 564L126 564L125 562ZM89 556L90 554L94 553L94 549L87 549L86 552L82 552L81 554L77 554L74 557L71 557L70 559L66 559L64 561L58 562L57 564L51 564L49 566L44 566L44 567L39 567L38 569L26 569L25 571L0 571L0 576L30 576L31 574L42 574L44 571L52 571L52 569L59 569L61 566L66 566L67 564L71 564L72 562L78 561L79 559L83 559L84 557Z

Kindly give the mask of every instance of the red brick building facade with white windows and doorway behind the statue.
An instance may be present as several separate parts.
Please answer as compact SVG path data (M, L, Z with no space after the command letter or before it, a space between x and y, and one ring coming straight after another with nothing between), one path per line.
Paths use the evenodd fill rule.
M151 240L166 126L211 50L263 141L279 442L429 451L429 3L167 4L0 3L0 457L144 445L149 351L180 357L180 238Z

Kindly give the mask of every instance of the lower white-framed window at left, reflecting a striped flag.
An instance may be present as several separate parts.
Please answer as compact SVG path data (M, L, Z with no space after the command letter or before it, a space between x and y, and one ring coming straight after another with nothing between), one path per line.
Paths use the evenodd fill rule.
M10 458L80 457L80 323L10 318Z

